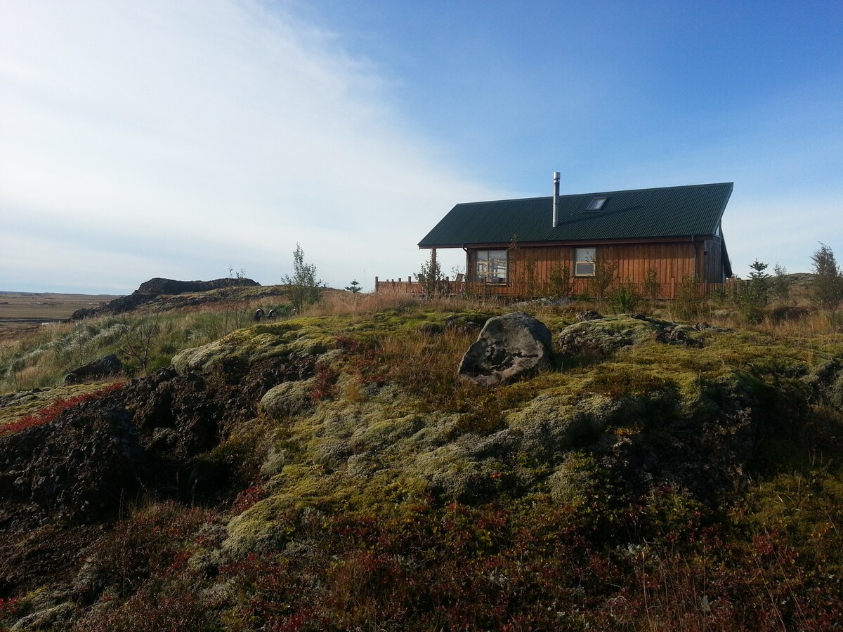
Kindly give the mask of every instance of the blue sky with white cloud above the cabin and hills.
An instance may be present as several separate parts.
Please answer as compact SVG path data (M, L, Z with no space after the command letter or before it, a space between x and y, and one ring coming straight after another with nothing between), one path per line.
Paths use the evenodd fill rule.
M843 0L0 0L0 290L415 274L455 204L734 182L843 262ZM445 274L462 250L440 250Z

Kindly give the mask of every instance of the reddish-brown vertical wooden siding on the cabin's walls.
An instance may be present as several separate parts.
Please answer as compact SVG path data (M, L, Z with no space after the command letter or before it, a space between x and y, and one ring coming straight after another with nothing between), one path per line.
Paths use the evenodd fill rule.
M531 245L516 244L508 249L507 283L486 284L475 281L476 250L502 249L500 245L469 249L466 255L464 282L448 280L447 293L473 293L478 295L500 295L510 297L552 296L554 288L550 283L551 270L565 266L571 278L570 296L592 296L591 276L574 276L574 256L577 248L596 248L599 260L617 265L614 284L629 281L644 294L644 281L648 270L656 270L656 280L661 291L659 297L673 298L676 287L685 276L700 279L703 291L710 293L716 284L724 281L722 276L721 240L709 237L705 240L656 241L627 244L576 244L576 245ZM423 293L417 281L380 281L375 279L376 292Z

